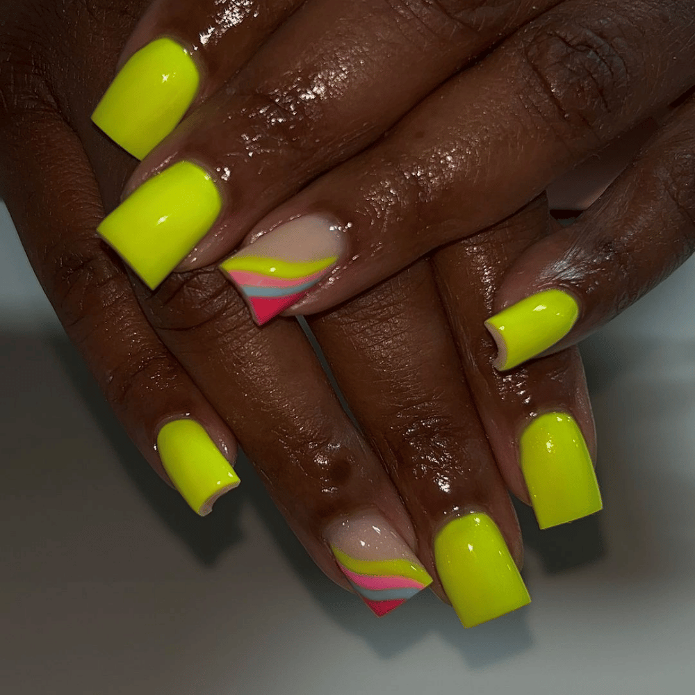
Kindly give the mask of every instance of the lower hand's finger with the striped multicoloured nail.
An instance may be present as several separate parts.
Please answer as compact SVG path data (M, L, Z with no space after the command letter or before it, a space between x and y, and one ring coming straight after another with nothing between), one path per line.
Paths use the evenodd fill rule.
M429 585L398 492L297 322L259 329L215 270L140 290L158 334L231 425L316 564L377 615Z

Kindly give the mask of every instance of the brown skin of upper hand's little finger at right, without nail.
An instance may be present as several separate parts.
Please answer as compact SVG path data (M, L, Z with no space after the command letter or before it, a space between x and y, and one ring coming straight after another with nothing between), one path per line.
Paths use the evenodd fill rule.
M575 224L510 268L494 309L548 288L580 300L575 345L666 279L695 252L695 99L664 121L628 169Z

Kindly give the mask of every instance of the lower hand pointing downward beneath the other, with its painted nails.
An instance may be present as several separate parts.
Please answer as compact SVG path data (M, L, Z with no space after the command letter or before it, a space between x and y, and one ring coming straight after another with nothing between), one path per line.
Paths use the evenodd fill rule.
M529 500L520 457L543 437L578 452L562 480L543 483L538 465L528 474L541 482L532 496L542 525L600 507L576 352L500 377L475 321L454 327L471 331L461 361L423 261L312 321L357 430L295 321L258 329L215 270L173 275L151 293L104 253L94 229L129 158L105 151L85 106L101 85L95 66L113 55L138 6L72 8L60 22L41 7L16 8L3 35L3 196L68 334L154 468L206 512L238 482L224 460L238 439L317 564L376 612L430 578L466 625L527 603L505 489ZM28 42L29 26L42 40ZM54 46L70 49L70 60ZM500 268L546 231L539 200L491 229L487 243L480 237L474 262L462 262L461 309L483 316Z

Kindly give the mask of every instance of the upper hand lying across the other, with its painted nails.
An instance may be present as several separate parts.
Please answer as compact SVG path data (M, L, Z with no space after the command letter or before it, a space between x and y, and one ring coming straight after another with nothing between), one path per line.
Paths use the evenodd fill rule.
M223 268L261 323L291 305L291 313L335 306L514 213L695 83L692 3L296 5L277 1L261 11L254 3L228 2L224 10L217 3L185 9L178 3L172 11L165 1L150 8L126 57L143 46L152 53L161 36L175 38L194 56L186 60L197 66L197 96L189 89L183 99L173 88L162 98L169 103L172 92L179 94L181 113L191 100L202 106L146 158L126 187L135 194L101 225L152 286L191 247L185 266L199 267L248 233L252 245ZM244 26L249 33L240 41ZM163 58L145 54L138 54L140 65L157 72ZM130 126L147 120L149 102L123 97L124 85L139 84L147 72L136 63L128 63L95 117L126 147L127 137L106 116L117 114L119 124ZM489 323L504 353L500 368L537 354L576 322L567 338L574 341L685 259L692 247L691 112L687 102L611 194L613 202L601 202L580 227L548 238L526 257L523 280L512 273L498 308L549 287L566 292L541 297L558 304L543 340L518 330L510 337L508 314L507 338L496 320ZM161 139L161 131L137 133L151 136L146 146L131 147L138 156ZM170 169L180 162L202 167L217 188L195 167ZM179 227L177 201L189 189L204 189L211 202ZM643 212L628 203L631 196ZM166 223L154 224L166 215ZM136 223L139 230L149 225L147 243L129 231ZM641 251L651 249L654 224L669 229L660 235L656 259ZM514 320L548 322L535 311L540 304L518 307Z

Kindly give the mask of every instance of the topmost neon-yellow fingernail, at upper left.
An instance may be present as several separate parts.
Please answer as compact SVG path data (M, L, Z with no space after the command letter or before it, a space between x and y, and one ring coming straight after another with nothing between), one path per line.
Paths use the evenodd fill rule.
M199 82L190 53L171 39L156 39L121 68L92 113L92 121L142 159L179 124Z

